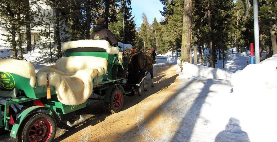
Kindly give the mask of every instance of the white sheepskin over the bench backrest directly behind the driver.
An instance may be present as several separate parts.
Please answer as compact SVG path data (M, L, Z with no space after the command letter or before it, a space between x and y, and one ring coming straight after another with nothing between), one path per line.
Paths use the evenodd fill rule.
M62 51L79 48L79 47L96 47L106 49L108 54L118 54L118 61L122 63L122 53L117 47L111 47L110 43L106 40L76 40L71 42L66 42L61 47Z

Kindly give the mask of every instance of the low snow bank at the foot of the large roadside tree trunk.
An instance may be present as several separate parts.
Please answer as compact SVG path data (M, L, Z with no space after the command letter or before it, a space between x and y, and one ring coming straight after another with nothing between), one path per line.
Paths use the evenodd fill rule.
M179 62L179 60L178 60ZM222 69L210 68L201 64L193 65L190 63L182 63L183 71L179 74L182 78L190 77L204 77L212 79L230 80L232 72L224 71Z

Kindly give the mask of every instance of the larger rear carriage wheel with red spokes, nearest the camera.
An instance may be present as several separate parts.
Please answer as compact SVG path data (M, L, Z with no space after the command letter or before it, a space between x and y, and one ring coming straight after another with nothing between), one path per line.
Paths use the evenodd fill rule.
M48 113L37 113L30 119L26 120L22 133L19 138L22 141L53 141L56 134L56 121Z

